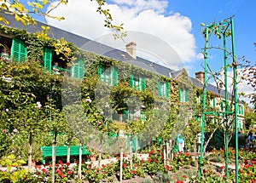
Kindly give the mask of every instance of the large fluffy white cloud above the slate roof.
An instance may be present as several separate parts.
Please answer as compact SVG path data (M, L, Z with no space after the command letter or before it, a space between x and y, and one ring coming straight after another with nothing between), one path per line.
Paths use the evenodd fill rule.
M172 51L176 51L182 62L190 62L195 59L195 37L191 33L192 23L188 17L181 14L164 14L167 7L165 0L113 0L107 4L113 20L116 24L124 23L125 31L140 31L159 37L159 40L166 42ZM112 33L105 28L104 17L96 13L97 3L90 0L72 0L66 6L55 9L54 15L64 16L66 20L48 20L52 26L57 26L67 31L88 37L92 40L100 40L106 34ZM137 43L138 37L125 37L125 41ZM111 46L120 48L120 45L111 41ZM147 45L151 44L156 49L158 43L137 43L137 49L148 50ZM125 43L123 43L123 46ZM154 50L148 50L154 53ZM166 54L166 50L165 53ZM140 52L138 52L140 54ZM161 53L154 53L165 62L176 62L177 60L162 57ZM179 60L179 62L181 61ZM179 64L180 65L180 64ZM170 64L169 66L172 66Z

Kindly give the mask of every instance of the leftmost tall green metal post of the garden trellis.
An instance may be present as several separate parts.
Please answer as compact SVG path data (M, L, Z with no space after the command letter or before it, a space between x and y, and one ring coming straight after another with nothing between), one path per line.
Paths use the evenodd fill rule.
M202 122L201 122L201 151L200 151L200 161L199 161L199 179L201 179L201 163L202 163L202 157L203 157L203 149L204 149L204 133L205 133L205 123L206 123L206 100L207 100L207 62L208 62L208 27L206 32L206 48L205 48L205 78L204 78L204 91L203 91L203 114L202 114Z

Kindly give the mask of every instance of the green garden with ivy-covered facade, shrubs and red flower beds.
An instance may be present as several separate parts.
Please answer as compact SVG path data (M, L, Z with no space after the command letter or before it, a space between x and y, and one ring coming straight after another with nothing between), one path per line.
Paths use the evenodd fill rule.
M79 58L84 60L84 67L89 68L84 80L65 77L63 73L54 75L42 66L42 50L45 46L54 49L53 45L58 45L75 51L71 44L52 40L46 43L35 35L5 29L30 43L30 58L36 60L0 62L0 76L3 76L0 80L1 182L235 181L232 166L235 163L234 120L230 120L228 129L228 176L225 172L222 117L206 118L206 153L199 163L196 135L201 131L201 121L195 118L200 117L202 106L196 97L203 91L187 82L186 71L181 71L180 77L172 80L119 63L119 83L109 86L100 81L99 66L116 66L117 61L91 53L78 53ZM68 53L61 55L71 62L73 54ZM144 89L131 87L131 73L150 78L146 80ZM159 81L169 83L168 97L159 96ZM189 102L185 104L179 101L179 86L188 89L189 95L185 100ZM218 111L210 106L210 100L215 97L218 96L207 93L209 112ZM125 113L128 109L133 118ZM191 109L195 109L195 117L186 113ZM115 117L110 117L113 111L116 112ZM137 112L144 117L135 118ZM253 126L255 113L250 115ZM187 123L184 123L185 120ZM251 126L248 125L247 130ZM177 131L182 132L186 140L184 152L178 152L175 147ZM138 138L144 146L131 151L127 136L133 137L141 132L143 135L138 135ZM124 134L127 139L122 138ZM219 136L223 138L219 139ZM106 144L108 146L104 146ZM53 150L53 156L47 158L45 163L43 146ZM79 150L75 156L68 152L67 155L56 156L58 153L55 150L58 151L61 146L67 149L79 146ZM84 146L90 155L82 156ZM256 181L254 147L239 149L240 182ZM90 159L93 155L97 157L95 162Z

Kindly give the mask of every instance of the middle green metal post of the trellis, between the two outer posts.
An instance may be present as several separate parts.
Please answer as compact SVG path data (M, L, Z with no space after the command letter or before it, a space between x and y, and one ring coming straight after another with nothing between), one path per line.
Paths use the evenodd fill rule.
M224 47L224 83L225 83L225 114L224 116L224 143L225 143L225 165L226 165L226 178L229 178L229 118L227 112L229 112L229 99L228 99L228 63L227 63L227 51L226 51L226 37L225 32L223 34L223 47Z

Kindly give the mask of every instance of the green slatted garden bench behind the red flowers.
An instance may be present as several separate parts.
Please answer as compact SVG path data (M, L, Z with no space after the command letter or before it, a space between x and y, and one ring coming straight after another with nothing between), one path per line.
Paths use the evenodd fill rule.
M41 146L42 152L42 163L45 164L45 159L47 157L52 157L52 146ZM70 146L70 157L79 155L79 146ZM67 146L56 146L55 147L56 157L67 157ZM90 152L87 152L86 147L83 146L82 156L90 156Z

